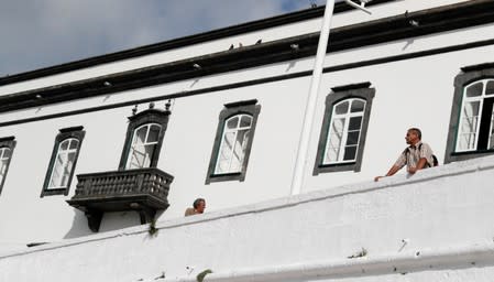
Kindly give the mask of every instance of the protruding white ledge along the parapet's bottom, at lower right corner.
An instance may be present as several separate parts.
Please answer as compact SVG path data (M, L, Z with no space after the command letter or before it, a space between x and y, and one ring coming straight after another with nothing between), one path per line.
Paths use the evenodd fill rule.
M494 243L465 246L455 249L421 251L380 257L363 257L339 261L314 261L308 263L276 265L268 268L235 270L211 273L206 282L268 282L307 281L321 279L351 278L359 275L407 274L408 272L463 269L473 265L492 265ZM143 281L154 281L143 280ZM197 282L195 276L165 279L165 282Z

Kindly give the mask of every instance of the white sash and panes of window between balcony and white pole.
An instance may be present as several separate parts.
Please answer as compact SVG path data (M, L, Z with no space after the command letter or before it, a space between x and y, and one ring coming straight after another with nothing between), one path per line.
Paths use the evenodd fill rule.
M215 174L241 172L252 126L252 116L241 113L224 121Z

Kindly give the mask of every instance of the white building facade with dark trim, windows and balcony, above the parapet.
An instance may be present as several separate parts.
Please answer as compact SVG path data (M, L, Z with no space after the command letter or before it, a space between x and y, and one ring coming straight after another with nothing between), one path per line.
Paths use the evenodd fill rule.
M494 152L494 1L337 3L301 193ZM0 248L292 195L323 8L0 78ZM239 44L241 43L241 45Z

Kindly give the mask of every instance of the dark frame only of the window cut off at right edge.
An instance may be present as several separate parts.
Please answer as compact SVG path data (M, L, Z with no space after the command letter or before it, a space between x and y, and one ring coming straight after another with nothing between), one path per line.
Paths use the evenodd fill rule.
M475 150L455 152L458 129L460 126L461 106L463 104L464 88L477 80L494 79L494 63L486 63L461 68L461 73L454 78L454 95L451 106L451 116L446 143L444 163L470 160L494 154L494 150ZM482 122L482 121L480 121Z

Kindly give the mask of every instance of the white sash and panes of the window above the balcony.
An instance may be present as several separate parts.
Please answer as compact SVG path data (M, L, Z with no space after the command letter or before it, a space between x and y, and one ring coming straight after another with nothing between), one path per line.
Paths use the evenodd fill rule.
M128 170L150 167L161 130L162 127L156 123L144 124L134 130L127 163Z

